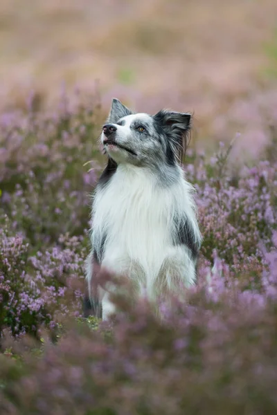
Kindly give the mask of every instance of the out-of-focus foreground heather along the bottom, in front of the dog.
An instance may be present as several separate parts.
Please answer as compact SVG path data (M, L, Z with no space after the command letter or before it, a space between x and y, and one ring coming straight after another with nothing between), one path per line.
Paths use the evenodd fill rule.
M1 357L1 410L274 414L276 292L242 293L231 280L224 286L221 270L217 261L213 282L201 279L188 304L175 299L172 308L161 306L163 322L146 301L117 297L112 326L91 331L72 323L57 345L45 340L39 359L22 349L21 365ZM270 272L274 268L267 275L272 286Z

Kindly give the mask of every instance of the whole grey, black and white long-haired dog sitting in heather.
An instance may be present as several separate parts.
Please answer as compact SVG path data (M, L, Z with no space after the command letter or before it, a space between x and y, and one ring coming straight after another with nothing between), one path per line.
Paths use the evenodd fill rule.
M103 320L114 312L107 291L91 292L95 264L128 275L151 300L195 284L202 237L180 166L189 133L188 113L132 113L112 100L100 138L108 160L93 197L85 315L96 312L96 298Z

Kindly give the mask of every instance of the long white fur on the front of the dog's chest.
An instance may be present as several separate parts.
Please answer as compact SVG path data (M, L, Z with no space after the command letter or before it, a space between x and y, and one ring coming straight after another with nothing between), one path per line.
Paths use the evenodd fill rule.
M129 259L139 262L148 275L157 275L172 243L169 196L144 169L126 167L119 167L107 187L96 194L93 244L98 249L97 243L106 238L104 261L112 265L121 259L121 265L113 266L116 272Z

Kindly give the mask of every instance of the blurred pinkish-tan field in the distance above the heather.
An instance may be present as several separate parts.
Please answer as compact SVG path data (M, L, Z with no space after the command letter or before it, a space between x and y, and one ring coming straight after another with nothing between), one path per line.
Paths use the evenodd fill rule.
M256 157L277 120L276 0L1 0L0 106L62 88L195 113L204 147ZM227 132L228 131L228 132Z

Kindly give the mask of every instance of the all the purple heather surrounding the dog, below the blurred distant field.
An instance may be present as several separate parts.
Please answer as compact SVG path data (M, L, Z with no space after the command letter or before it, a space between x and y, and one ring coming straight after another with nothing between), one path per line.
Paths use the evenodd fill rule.
M101 165L87 108L64 100L52 116L30 105L0 119L0 413L275 414L276 137L243 167L223 144L210 158L188 151L197 286L160 304L162 319L119 291L114 320L92 330L76 318Z

